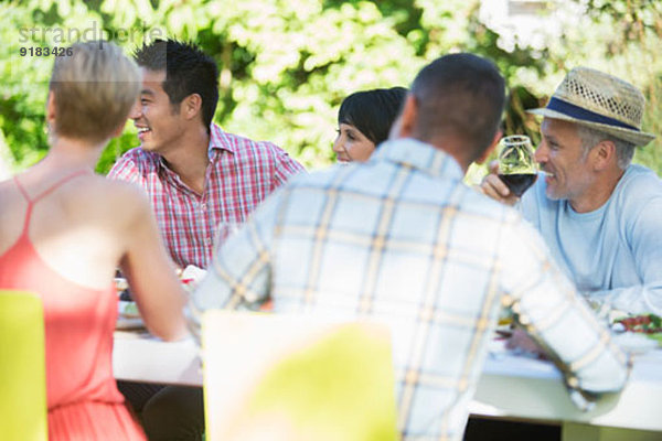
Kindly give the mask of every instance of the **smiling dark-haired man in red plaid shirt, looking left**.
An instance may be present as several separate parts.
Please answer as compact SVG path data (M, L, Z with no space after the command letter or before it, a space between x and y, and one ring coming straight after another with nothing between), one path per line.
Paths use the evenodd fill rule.
M212 243L303 168L270 142L212 123L218 101L215 62L199 49L156 41L136 54L140 105L131 112L141 146L109 178L135 182L151 201L170 255L182 268L206 268Z

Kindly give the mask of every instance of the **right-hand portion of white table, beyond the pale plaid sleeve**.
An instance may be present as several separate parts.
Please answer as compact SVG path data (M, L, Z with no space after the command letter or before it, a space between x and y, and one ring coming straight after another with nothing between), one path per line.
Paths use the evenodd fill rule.
M662 349L636 355L633 361L626 388L602 396L584 412L570 400L551 362L490 354L470 411L496 419L560 423L564 441L662 440Z

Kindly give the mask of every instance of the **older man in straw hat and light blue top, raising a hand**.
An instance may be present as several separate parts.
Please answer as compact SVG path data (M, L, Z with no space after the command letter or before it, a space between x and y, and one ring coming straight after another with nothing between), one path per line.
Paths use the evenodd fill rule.
M536 184L521 201L556 261L591 301L631 312L662 313L662 182L630 164L641 131L644 98L629 83L577 67L546 107L535 152ZM482 191L504 203L516 197L496 176Z

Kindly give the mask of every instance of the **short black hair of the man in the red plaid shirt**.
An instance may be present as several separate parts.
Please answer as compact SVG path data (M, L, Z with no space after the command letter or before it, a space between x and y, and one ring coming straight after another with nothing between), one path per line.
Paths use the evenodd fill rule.
M138 49L134 58L147 69L166 71L163 90L171 105L178 106L191 94L200 95L202 120L210 130L218 104L218 68L211 56L193 43L154 40Z

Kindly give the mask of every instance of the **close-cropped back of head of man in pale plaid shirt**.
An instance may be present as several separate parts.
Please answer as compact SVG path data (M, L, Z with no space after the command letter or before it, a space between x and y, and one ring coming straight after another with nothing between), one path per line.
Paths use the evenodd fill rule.
M423 68L414 79L415 136L431 141L444 135L467 144L474 161L491 144L505 105L505 82L496 66L472 54L450 54Z

